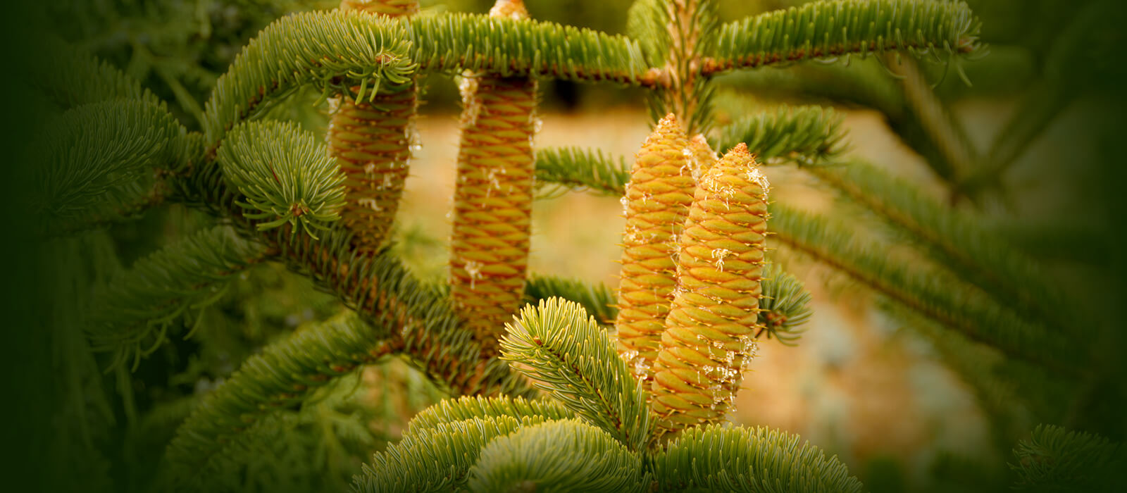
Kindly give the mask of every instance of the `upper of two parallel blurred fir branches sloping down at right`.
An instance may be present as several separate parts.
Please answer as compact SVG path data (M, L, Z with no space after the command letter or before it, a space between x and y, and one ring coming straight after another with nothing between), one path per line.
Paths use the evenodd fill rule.
M1070 304L1046 303L1063 297L1050 289L1048 276L975 216L952 210L913 183L863 162L807 170L908 233L932 258L1026 319L1048 320L1061 330L1081 335L1076 332L1080 324L1073 325L1079 314L1070 313Z

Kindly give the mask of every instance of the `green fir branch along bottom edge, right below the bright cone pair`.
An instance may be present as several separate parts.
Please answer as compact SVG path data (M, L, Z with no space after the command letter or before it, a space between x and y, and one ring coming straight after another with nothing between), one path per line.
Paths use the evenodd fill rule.
M860 492L845 465L797 434L709 424L654 457L658 491Z

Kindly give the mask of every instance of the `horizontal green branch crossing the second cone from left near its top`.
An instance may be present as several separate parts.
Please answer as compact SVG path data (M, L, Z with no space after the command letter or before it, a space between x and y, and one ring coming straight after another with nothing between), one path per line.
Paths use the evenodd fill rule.
M452 14L410 19L421 70L653 84L638 43L554 23Z

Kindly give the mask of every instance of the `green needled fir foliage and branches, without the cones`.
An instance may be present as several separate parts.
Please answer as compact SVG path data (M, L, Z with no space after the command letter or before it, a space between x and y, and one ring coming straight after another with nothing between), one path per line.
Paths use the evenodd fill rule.
M598 324L614 320L616 312L612 290L602 284L533 277L525 296L535 306L508 326L503 358L483 355L483 341L454 315L444 286L419 283L394 246L375 253L354 249L356 239L336 221L346 200L343 177L314 135L295 124L247 120L286 117L282 110L267 114L286 102L309 106L286 101L299 90L303 96L320 92L322 99L372 101L385 84L421 72L469 70L640 86L655 117L672 111L692 133L708 133L720 106L711 99L718 86L743 84L756 96L771 87L777 93L807 91L881 111L933 171L952 183L952 197L974 197L993 186L994 174L1072 101L1076 80L1107 73L1107 54L1121 45L1109 37L1095 46L1083 36L1117 21L1106 15L1110 3L1075 16L1057 36L1058 45L1044 52L1044 70L1063 75L1030 92L1029 105L986 153L992 164L979 159L942 99L960 92L932 90L937 70L961 71L962 55L979 52L978 21L956 1L818 1L720 25L718 2L639 0L627 23L630 37L480 15L424 12L389 20L304 12L267 26L218 80L215 69L246 42L239 33L302 6L289 0L185 0L151 9L148 2L87 3L76 3L81 8L63 16L68 24L60 30L78 26L105 36L115 32L98 27L99 21L122 27L127 33L122 37L79 44L110 52L107 60L127 65L126 72L145 86L159 82L158 89L165 89L159 93L175 98L172 114L198 118L204 133L188 133L142 82L50 39L43 46L45 60L29 79L34 84L28 84L41 93L42 106L60 114L35 142L35 161L43 163L36 171L43 200L36 205L51 222L41 233L121 222L161 203L189 205L210 214L203 219L207 224L224 224L175 241L195 223L150 214L128 233L99 232L106 244L89 253L105 265L60 260L59 269L85 271L55 276L55 295L78 298L82 306L76 311L89 305L94 312L90 324L81 328L87 339L62 335L54 348L68 362L61 373L71 394L59 415L81 423L85 450L64 463L81 463L76 470L98 477L91 484L109 485L118 475L127 476L123 487L130 490L338 487L357 468L361 451L381 446L370 427L373 414L336 398L352 395L340 387L361 385L354 371L358 366L398 355L442 391L465 397L421 412L402 441L364 467L355 483L358 491L858 491L860 483L836 458L779 431L711 425L686 430L668 443L655 442L646 385L635 379ZM329 3L336 2L318 6ZM107 14L117 11L133 17ZM185 18L137 20L167 12ZM227 15L238 19L222 26ZM165 26L168 33L160 33ZM177 43L169 52L159 50ZM899 53L894 52L933 55L940 63L896 63ZM797 64L715 80L736 69L848 61L853 54L878 56L852 66ZM949 65L951 61L956 63ZM197 96L212 83L211 100L202 109ZM711 134L718 150L745 142L764 162L800 165L832 163L844 151L841 118L831 109L782 107L764 114L730 111L730 117L729 125ZM539 150L536 161L538 180L559 189L620 195L629 179L627 161L600 150ZM1100 374L1110 364L1092 362L1089 352L1095 351L1089 346L1115 338L1071 343L1085 340L1091 317L1071 296L1058 294L1066 289L1036 260L1003 243L979 217L870 167L807 170L914 249L890 250L859 237L867 224L781 205L772 207L771 232L786 249L811 256L887 298L888 311L923 333L976 392L997 443L1012 445L1033 416L1089 424L1088 401L1099 400L1098 389L1113 379ZM299 228L308 234L296 234ZM165 235L162 240L174 242L103 279L105 271L116 269L103 259L116 261L110 234L119 242L130 241L127 234ZM77 253L78 244L48 254ZM329 293L329 301L278 302L285 310L268 317L257 316L243 296L215 304L229 293L230 279L264 260L309 277L311 286ZM97 290L86 299L82 293L90 285ZM766 267L760 287L764 297L757 337L792 343L810 317L809 293L775 265ZM296 317L313 323L292 333L299 322L277 321L291 308L314 304ZM338 304L348 311L317 322ZM206 316L186 316L205 306L212 306ZM80 317L72 315L61 314L59 321L78 332ZM214 323L188 332L196 334L192 341L170 337L181 322L195 331L205 321ZM258 333L249 337L250 331ZM241 337L246 340L239 344L224 344ZM268 338L274 340L266 342ZM117 370L113 383L121 409L106 403L97 375L80 375L97 374L99 361L87 343L113 353L100 362ZM1113 358L1113 350L1108 351ZM145 366L161 368L139 365L144 356ZM133 367L126 370L123 364L130 360ZM1073 385L1077 374L1090 395L1054 398L1072 396L1058 389ZM187 391L193 385L197 395ZM532 400L535 388L547 395ZM127 431L107 431L114 430L116 414L124 414ZM70 433L80 427L66 428ZM122 456L147 454L167 442L160 482L148 482L157 474L149 470L153 468L134 474L106 466L95 446L103 442L126 443L110 451ZM1121 451L1110 442L1057 428L1039 428L1017 454L1018 485L1033 490L1102 487L1109 472L1122 464ZM122 485L107 488L113 486Z

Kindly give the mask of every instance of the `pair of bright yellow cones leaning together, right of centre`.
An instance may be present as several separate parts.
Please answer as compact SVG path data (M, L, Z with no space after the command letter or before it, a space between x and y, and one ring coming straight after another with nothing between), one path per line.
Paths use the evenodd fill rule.
M719 421L754 356L769 187L746 145L717 160L672 114L638 152L615 328L663 433Z

